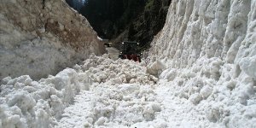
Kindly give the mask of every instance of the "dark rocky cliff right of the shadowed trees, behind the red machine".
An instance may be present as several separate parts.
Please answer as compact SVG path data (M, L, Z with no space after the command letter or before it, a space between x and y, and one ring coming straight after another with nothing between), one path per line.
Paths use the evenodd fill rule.
M122 40L134 40L141 43L141 49L148 49L150 42L166 23L166 15L172 0L148 0L144 11L127 26L127 33L119 35ZM124 34L125 33L125 34ZM126 35L126 36L123 36ZM117 38L117 39L119 39Z

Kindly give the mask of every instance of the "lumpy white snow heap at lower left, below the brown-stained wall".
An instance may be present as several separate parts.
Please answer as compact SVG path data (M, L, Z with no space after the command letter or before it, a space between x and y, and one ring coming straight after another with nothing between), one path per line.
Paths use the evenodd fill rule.
M53 127L64 108L84 87L88 77L67 68L55 76L33 81L28 75L5 78L0 92L0 127Z

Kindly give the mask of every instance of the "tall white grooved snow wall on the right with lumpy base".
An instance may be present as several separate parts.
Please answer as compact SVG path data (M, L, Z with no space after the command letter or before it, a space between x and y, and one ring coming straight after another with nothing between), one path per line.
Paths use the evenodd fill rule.
M255 26L255 0L173 0L149 55L168 65L160 79L207 119L255 127Z

